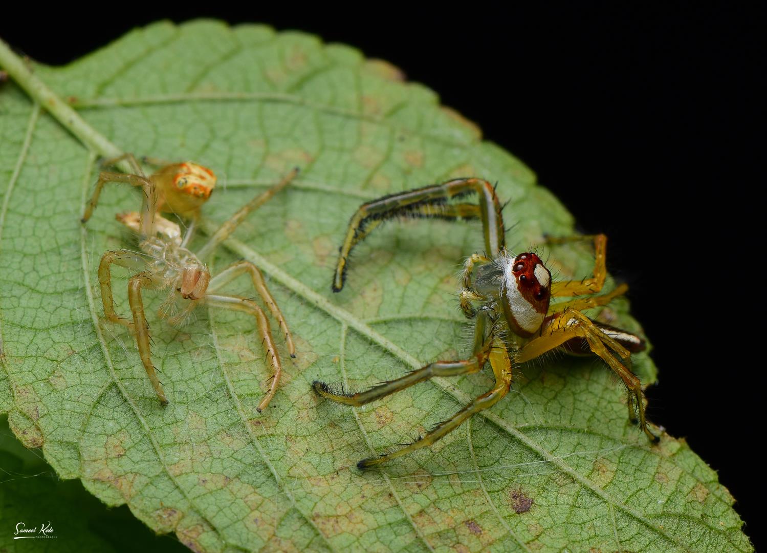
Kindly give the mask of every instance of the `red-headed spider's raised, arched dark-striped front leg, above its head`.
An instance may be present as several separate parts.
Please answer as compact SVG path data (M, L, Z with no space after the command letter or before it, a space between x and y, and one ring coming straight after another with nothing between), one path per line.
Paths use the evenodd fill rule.
M476 204L447 204L449 200L475 193L479 196ZM495 190L487 180L461 178L443 184L433 184L399 194L390 194L363 204L351 217L344 243L339 250L338 262L333 279L333 291L344 287L347 260L352 248L370 232L367 227L374 221L397 217L458 217L474 218L479 215L485 235L485 248L489 255L495 255L504 246L502 205ZM376 224L377 225L377 224Z

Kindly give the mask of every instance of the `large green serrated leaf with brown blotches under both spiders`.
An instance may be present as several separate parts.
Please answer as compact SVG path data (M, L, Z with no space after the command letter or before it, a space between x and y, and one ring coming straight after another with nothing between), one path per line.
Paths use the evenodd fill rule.
M197 551L752 550L716 473L682 440L649 445L594 359L532 366L507 399L430 449L383 471L354 467L491 382L433 379L360 409L310 392L318 377L357 389L467 353L455 273L482 247L479 226L384 227L358 248L334 295L334 256L357 206L478 175L498 180L511 201L509 247L573 231L527 167L432 91L346 46L217 22L158 23L67 67L34 70L87 124L33 90L78 140L15 84L0 91L0 410L62 478L81 478L108 505L127 503ZM262 414L268 368L245 316L201 310L178 329L151 318L165 408L129 333L100 320L98 260L130 244L114 214L140 201L115 185L87 228L79 224L97 154L114 148L101 135L119 150L212 167L222 190L205 208L206 230L302 168L212 267L257 263L297 340L298 359L286 361ZM593 263L586 247L550 253L563 276L585 276ZM125 283L116 281L123 313ZM232 289L249 293L245 282ZM601 316L638 329L627 310L621 300ZM646 354L634 368L655 379Z

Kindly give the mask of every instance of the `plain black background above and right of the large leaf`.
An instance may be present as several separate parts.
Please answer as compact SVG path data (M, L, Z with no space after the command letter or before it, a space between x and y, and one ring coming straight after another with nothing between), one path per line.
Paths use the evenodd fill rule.
M159 18L257 18L354 45L438 91L532 167L581 230L608 234L608 265L630 283L660 368L650 419L719 471L759 549L767 357L765 325L752 320L765 286L765 18L744 6L693 6L358 5L351 17L330 5L130 4L79 22L6 19L0 36L58 65Z

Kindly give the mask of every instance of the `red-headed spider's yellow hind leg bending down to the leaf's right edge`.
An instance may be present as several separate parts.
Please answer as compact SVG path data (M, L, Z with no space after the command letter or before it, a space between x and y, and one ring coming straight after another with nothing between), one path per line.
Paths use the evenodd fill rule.
M635 403L639 415L639 423L647 438L657 442L659 438L650 432L647 420L644 416L644 390L640 379L632 373L621 361L616 359L617 353L622 359L630 359L631 353L621 343L612 338L604 329L591 321L580 311L566 310L560 316L548 324L543 330L542 336L530 340L525 347L515 356L515 363L525 363L531 359L542 356L552 349L563 346L571 339L585 339L592 353L600 356L617 376L621 377L624 385L630 393L629 413L630 419L634 419L632 410ZM614 353L611 353L611 351Z

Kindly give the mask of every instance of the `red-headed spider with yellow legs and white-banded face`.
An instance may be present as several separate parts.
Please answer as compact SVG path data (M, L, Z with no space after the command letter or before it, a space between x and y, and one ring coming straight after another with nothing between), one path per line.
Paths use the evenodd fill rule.
M479 196L479 205L450 203L469 194ZM347 393L343 389L314 381L314 390L322 397L350 406L361 406L381 399L433 376L458 376L476 373L489 361L495 386L474 399L452 418L440 422L426 435L400 449L363 459L357 466L367 469L390 459L430 445L453 432L472 415L502 399L509 392L517 366L542 356L552 349L565 353L594 353L604 359L628 390L629 418L638 422L653 442L658 438L648 428L644 416L645 399L640 380L627 368L630 355L645 348L644 339L625 330L589 319L581 310L609 303L626 293L626 285L611 293L599 293L607 277L605 252L607 237L551 239L594 240L596 261L594 276L584 280L551 282L551 273L535 253L514 255L505 250L502 206L495 188L486 180L460 178L400 194L391 194L362 205L351 218L346 238L339 248L333 291L344 287L347 259L352 248L385 220L403 217L426 217L446 220L482 220L486 254L474 253L464 263L463 288L459 292L463 313L474 320L473 352L469 359L435 361L398 379L382 382L365 392ZM591 295L591 296L589 296ZM551 297L574 297L574 300L550 304ZM581 297L575 297L581 296Z

